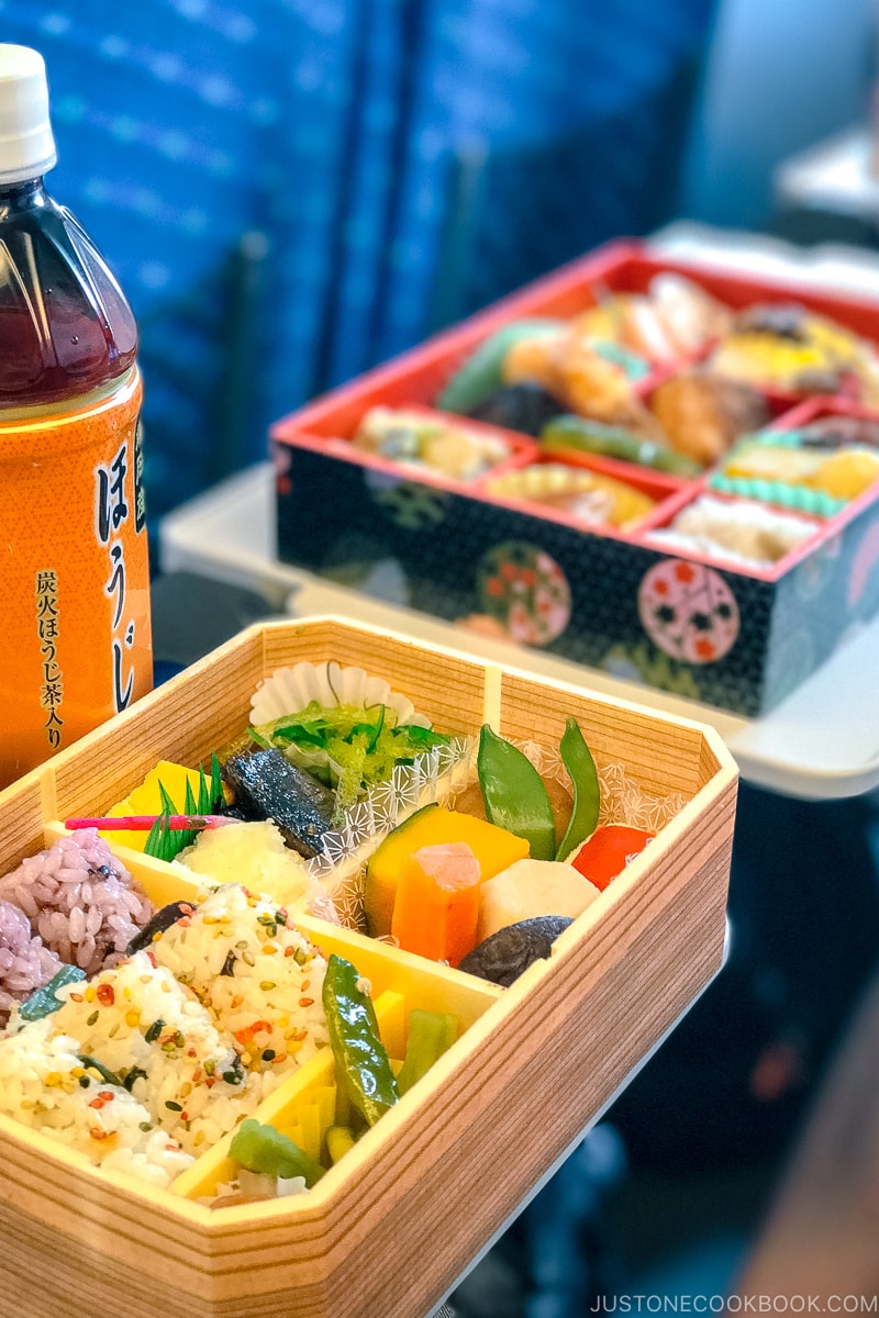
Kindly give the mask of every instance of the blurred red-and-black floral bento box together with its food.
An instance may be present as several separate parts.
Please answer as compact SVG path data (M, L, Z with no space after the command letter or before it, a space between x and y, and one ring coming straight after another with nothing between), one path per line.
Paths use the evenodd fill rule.
M593 413L592 423L605 418L590 423L605 445L593 447L594 434L584 442L577 432L582 362L572 358L569 397L560 401L540 326L550 322L551 336L552 323L569 328L592 316L592 343L615 332L608 330L611 312L640 308L656 281L669 277L708 295L727 318L725 326L709 327L698 343L679 340L672 351L667 343L651 344L647 333L643 370L626 377L627 402L615 414L622 419L602 413L604 399ZM525 347L515 333L522 322L534 335L525 336ZM510 332L513 348L502 369L513 358L515 364L502 377L492 347ZM634 243L610 244L277 422L279 556L348 583L356 579L365 590L381 580L376 567L390 560L405 602L463 629L746 716L763 713L879 606L879 484L872 480L872 464L879 464L879 431L872 428L879 423L878 344L879 307L871 303L659 261ZM536 381L538 413L547 397L555 402L550 422L544 418L526 434L503 407L477 406L459 415L467 409L453 401L478 395L480 382L476 394L470 387L477 349L484 355L480 369L494 370L496 384ZM601 352L602 369L609 362L630 369L627 347L605 344ZM592 368L584 369L588 374ZM729 407L723 401L726 411L712 414L721 416L726 447L704 449L697 442L698 460L691 461L693 445L685 439L675 461L667 461L662 427L671 415L669 384L718 373L726 373L727 384L731 374L747 394L743 410L734 398ZM618 384L610 381L611 391ZM679 411L687 406L689 401L681 402ZM494 452L492 464L474 476L455 465L415 464L399 434L390 447L357 443L364 418L381 409L414 414L410 439L419 414L424 427L464 426ZM737 413L738 432L726 427ZM565 438L569 414L573 440ZM818 445L839 447L845 436L818 440L809 427L834 416L863 422L853 440L855 457L849 449L845 459L821 449L833 459L828 471L834 476L826 488L816 486ZM631 430L652 463L634 461L631 435L623 435L621 448L618 434L606 440L608 430ZM652 447L659 459L650 453L658 436ZM733 461L739 452L750 465ZM770 459L779 460L780 476ZM849 465L839 484L841 461ZM847 478L853 463L854 482ZM604 496L590 486L618 480L629 490L625 506L634 501L638 515L602 523L594 506ZM564 486L567 502L556 497L556 485Z

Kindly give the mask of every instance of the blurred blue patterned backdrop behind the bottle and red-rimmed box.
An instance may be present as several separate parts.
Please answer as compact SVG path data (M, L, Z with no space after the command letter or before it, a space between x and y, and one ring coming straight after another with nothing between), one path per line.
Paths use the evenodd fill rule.
M152 517L594 244L760 227L865 113L868 0L0 0L138 316Z

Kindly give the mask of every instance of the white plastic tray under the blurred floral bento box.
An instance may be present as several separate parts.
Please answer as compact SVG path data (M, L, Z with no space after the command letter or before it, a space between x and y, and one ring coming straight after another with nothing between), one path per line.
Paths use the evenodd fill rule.
M747 720L713 705L611 677L597 668L540 650L461 631L394 602L389 571L373 581L378 600L279 563L274 544L274 493L269 463L233 476L169 514L161 525L165 572L196 572L261 590L298 617L332 613L366 619L424 641L468 648L482 658L525 667L556 680L623 696L716 728L742 778L805 800L857 796L879 786L879 618L851 637L781 705ZM416 601L415 601L416 602Z

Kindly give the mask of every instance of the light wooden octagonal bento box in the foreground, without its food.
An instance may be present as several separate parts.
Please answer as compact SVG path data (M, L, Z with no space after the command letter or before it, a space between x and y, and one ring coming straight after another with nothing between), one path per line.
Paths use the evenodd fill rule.
M722 963L737 772L713 730L336 618L241 633L0 793L0 873L158 760L204 762L241 733L261 679L300 659L361 666L439 729L488 721L557 745L575 717L597 763L683 804L509 988L297 917L369 978L391 1054L401 995L463 1024L306 1194L216 1211L198 1202L221 1173L211 1152L181 1178L187 1198L0 1118L3 1318L72 1318L84 1304L125 1318L426 1318ZM198 876L187 887L179 867L116 850L157 904L198 891ZM304 1089L332 1102L331 1061L318 1072Z

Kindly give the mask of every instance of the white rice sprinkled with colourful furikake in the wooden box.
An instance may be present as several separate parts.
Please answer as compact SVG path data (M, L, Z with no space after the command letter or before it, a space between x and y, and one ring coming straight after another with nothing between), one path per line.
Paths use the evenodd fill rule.
M286 911L225 884L153 941L55 990L0 1037L0 1111L167 1185L328 1046L324 958ZM157 928L161 921L157 921Z

